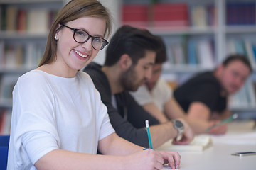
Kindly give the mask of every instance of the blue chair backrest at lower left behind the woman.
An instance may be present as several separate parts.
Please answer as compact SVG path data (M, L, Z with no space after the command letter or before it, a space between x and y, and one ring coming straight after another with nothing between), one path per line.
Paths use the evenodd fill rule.
M7 168L7 158L8 158L8 149L9 149L9 140L10 136L0 136L0 169Z

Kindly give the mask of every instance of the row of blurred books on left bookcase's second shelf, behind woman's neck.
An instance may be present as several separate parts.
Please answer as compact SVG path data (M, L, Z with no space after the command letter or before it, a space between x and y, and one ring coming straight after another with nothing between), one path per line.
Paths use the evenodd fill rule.
M1 68L16 69L20 67L33 68L38 65L43 57L45 45L33 42L18 45L7 45L0 42Z

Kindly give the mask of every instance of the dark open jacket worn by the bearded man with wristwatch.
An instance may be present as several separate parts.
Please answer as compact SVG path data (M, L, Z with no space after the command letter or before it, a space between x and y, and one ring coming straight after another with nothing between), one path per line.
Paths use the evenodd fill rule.
M107 106L110 115L110 123L119 137L129 140L136 145L149 147L145 127L145 120L149 120L150 125L159 124L159 121L153 118L148 112L139 106L128 91L116 94L117 109L112 105L112 93L110 83L101 66L96 63L90 63L84 69L90 75L96 89L100 92L102 102Z

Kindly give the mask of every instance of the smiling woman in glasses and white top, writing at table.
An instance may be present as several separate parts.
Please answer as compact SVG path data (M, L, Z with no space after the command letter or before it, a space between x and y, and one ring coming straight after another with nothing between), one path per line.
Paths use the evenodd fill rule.
M118 137L89 75L78 71L107 45L109 32L109 13L96 0L73 0L60 11L39 67L14 87L7 169L178 168L177 152Z

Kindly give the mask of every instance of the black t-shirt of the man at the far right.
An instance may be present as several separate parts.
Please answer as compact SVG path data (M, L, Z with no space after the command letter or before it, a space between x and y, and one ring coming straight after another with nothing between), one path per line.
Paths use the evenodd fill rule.
M220 113L227 106L227 98L220 96L221 85L213 72L203 72L178 86L174 98L187 113L193 102L202 102L210 108L211 113Z

